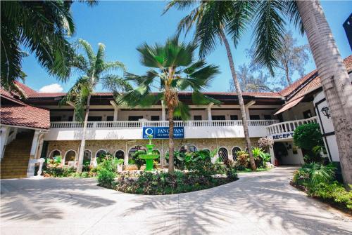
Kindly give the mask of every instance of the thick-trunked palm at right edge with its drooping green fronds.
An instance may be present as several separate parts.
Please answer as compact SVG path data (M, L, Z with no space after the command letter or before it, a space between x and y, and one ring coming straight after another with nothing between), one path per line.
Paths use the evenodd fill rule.
M319 1L260 1L255 6L255 12L256 25L253 29L256 39L253 46L259 65L269 69L277 66L286 21L294 22L302 34L306 33L331 109L344 183L352 184L351 79Z

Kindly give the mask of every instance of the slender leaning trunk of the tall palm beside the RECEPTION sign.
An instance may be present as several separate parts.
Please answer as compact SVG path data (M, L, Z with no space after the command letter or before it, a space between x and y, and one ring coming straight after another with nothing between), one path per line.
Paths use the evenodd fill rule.
M254 161L253 153L252 153L251 139L249 138L246 109L244 107L244 100L242 97L241 86L239 86L239 80L237 79L237 74L236 74L236 71L234 70L234 60L232 59L230 44L227 41L227 38L226 38L225 33L223 31L221 31L220 36L221 36L222 41L225 44L227 58L228 58L229 64L230 64L232 79L234 81L234 86L236 87L237 96L239 97L239 108L241 109L242 123L243 123L243 128L244 128L244 138L246 139L246 145L247 145L247 149L249 152L249 161L251 163L251 169L256 170L256 163Z

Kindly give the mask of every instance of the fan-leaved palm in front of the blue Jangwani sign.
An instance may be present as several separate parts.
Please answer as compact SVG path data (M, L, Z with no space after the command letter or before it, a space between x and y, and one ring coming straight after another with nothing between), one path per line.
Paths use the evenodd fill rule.
M118 98L119 103L130 107L150 106L163 101L168 108L169 121L169 173L174 171L174 116L187 119L189 107L178 98L182 90L191 90L195 105L219 104L218 100L201 93L206 88L218 67L207 65L204 60L194 61L194 43L180 43L176 38L168 39L165 44L149 46L144 43L137 48L142 65L149 67L143 76L126 74L127 80L137 83L137 88ZM156 70L158 69L158 70ZM152 88L158 90L152 93Z

